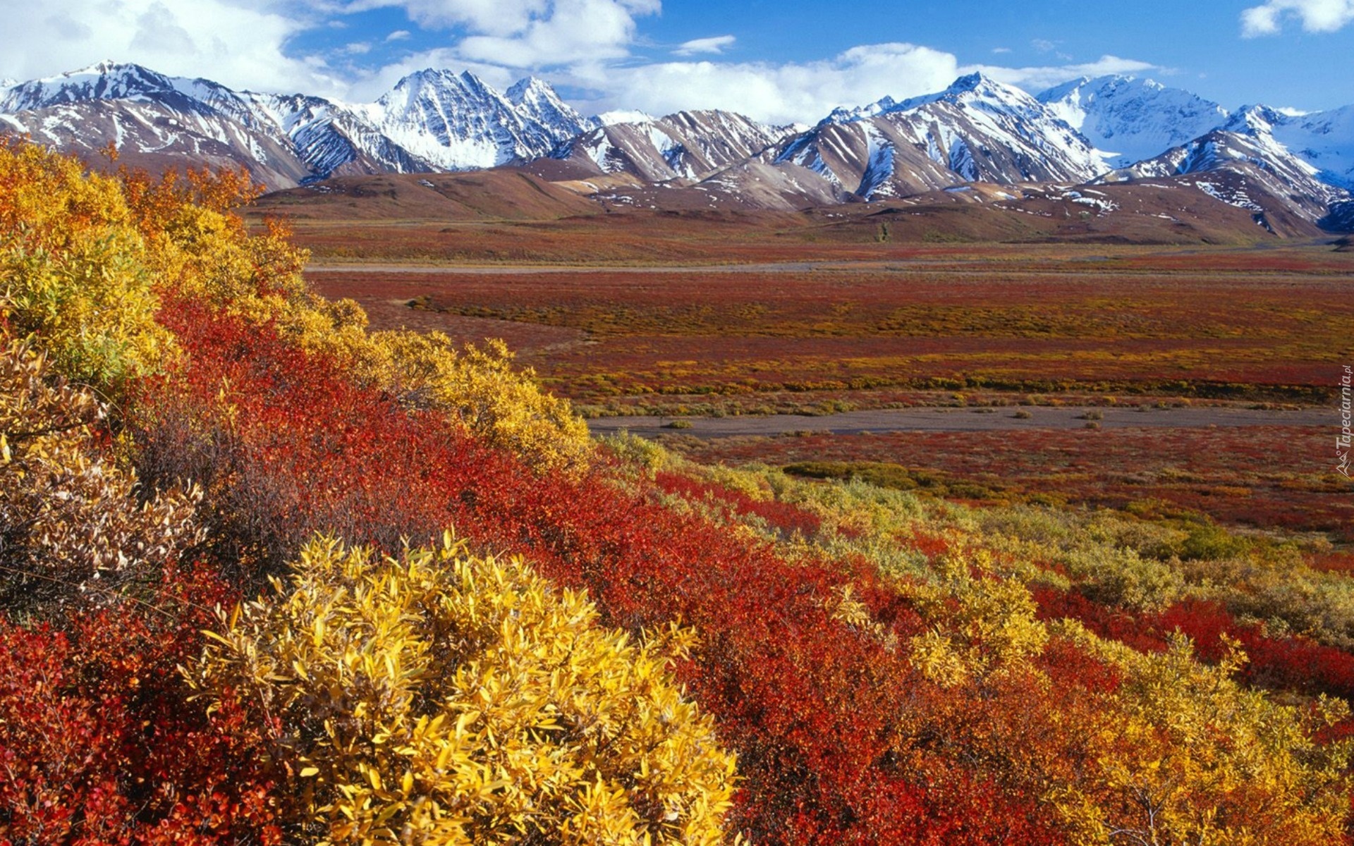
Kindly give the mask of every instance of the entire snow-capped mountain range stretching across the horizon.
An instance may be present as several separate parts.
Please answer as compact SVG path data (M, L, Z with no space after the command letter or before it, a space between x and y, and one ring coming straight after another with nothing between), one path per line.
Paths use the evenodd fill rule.
M798 210L983 184L1009 190L971 198L1156 180L1250 211L1270 230L1280 213L1332 230L1354 222L1354 106L1232 111L1122 76L1032 96L975 73L942 92L842 107L815 126L766 126L719 110L588 118L532 77L498 92L468 72L429 69L349 104L102 62L0 84L4 130L85 154L114 143L123 161L156 171L244 166L272 190L512 165L613 207L662 198Z

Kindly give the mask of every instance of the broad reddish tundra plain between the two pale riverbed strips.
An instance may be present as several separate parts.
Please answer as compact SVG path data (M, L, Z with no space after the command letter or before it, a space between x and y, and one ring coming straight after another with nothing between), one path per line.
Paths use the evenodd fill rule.
M551 329L524 338L523 361L592 403L872 388L1334 395L1354 337L1347 276L1301 275L1296 260L1246 273L1147 261L309 277L389 324L436 324L432 310L463 337ZM409 300L422 310L391 309Z

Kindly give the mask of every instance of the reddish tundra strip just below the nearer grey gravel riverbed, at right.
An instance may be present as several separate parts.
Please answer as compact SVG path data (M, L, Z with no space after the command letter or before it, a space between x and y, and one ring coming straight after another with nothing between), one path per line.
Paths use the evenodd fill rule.
M895 432L672 444L699 462L881 462L930 471L938 485L972 483L959 493L969 498L1043 494L1113 508L1160 501L1228 524L1354 540L1354 485L1335 472L1332 428ZM1338 556L1330 563L1347 566Z

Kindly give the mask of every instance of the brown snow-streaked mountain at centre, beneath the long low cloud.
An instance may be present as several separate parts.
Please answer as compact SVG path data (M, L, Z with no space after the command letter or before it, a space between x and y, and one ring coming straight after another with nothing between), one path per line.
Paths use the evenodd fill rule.
M781 133L728 111L681 111L666 118L617 122L578 135L554 157L594 173L630 173L645 181L701 180L780 141Z

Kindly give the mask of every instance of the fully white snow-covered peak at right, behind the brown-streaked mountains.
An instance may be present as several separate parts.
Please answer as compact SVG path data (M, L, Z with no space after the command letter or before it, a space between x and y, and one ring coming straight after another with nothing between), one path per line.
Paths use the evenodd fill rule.
M1082 77L1049 88L1037 99L1116 168L1198 138L1229 116L1212 100L1128 76Z

